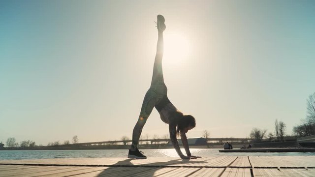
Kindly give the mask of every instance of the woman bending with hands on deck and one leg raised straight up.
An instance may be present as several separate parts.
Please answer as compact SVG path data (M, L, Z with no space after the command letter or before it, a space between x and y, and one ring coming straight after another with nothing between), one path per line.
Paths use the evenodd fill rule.
M143 152L137 148L139 138L142 132L142 128L149 118L153 108L158 110L158 113L163 122L169 124L169 134L176 152L182 159L195 159L197 156L191 155L189 151L188 141L186 133L196 126L195 118L190 115L183 115L167 98L167 88L163 80L162 72L162 57L163 57L163 31L166 26L164 24L165 19L162 15L158 15L158 45L157 54L153 66L153 76L151 87L147 91L140 116L132 132L132 144L129 149L128 158L146 159ZM176 135L180 134L183 146L185 148L187 156L185 156L179 148Z

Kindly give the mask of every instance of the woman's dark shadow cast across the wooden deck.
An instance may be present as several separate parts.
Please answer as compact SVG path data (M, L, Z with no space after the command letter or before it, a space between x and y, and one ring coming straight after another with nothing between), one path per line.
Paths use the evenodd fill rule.
M126 159L119 161L113 166L103 170L100 174L97 175L97 177L138 177L138 176L144 176L144 177L153 177L155 175L155 172L162 169L163 167L169 166L169 165L178 165L178 164L187 164L187 163L206 163L204 161L196 161L196 160L170 160L168 162L153 162L153 163L146 163L146 164L140 164L140 165L134 165L131 163L132 160L136 159ZM180 165L178 168L181 167ZM168 167L169 169L166 171L161 172L162 175L168 172L171 172L173 170L176 170L177 168ZM157 175L157 174L156 174Z

